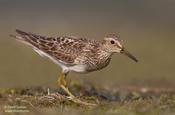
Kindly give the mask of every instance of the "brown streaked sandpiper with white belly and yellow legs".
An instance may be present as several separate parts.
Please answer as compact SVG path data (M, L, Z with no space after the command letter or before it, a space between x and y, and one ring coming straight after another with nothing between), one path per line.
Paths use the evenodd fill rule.
M72 99L76 97L68 89L66 76L71 72L89 73L101 70L109 65L112 55L120 53L135 62L137 58L122 45L116 34L108 34L102 40L75 36L46 37L16 29L17 35L11 35L17 41L30 46L41 57L47 57L61 67L58 85Z

